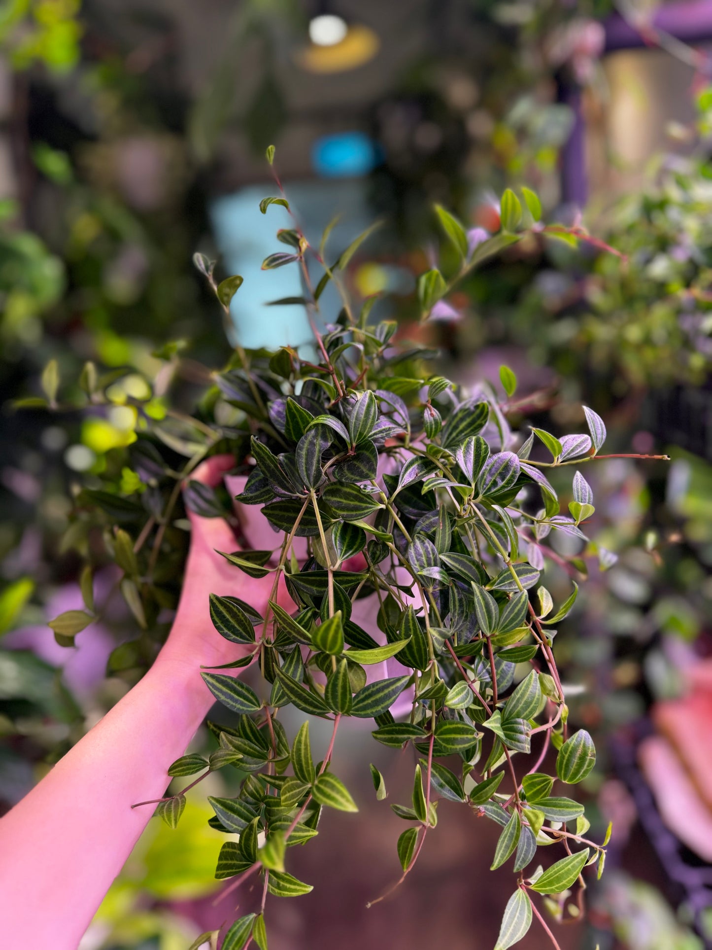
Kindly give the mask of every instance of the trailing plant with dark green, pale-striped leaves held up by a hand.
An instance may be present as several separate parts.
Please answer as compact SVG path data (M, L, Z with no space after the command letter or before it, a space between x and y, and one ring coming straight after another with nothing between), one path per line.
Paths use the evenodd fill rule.
M534 223L538 199L526 190L524 197L530 228L546 230ZM264 199L262 211L275 201L289 207L281 193ZM455 266L451 255L450 276L436 268L421 276L423 319L460 276L524 233L514 193L505 193L501 211L502 232L475 243L456 218L437 209ZM548 558L562 561L548 544L552 532L587 542L584 523L594 506L578 466L611 457L600 454L606 428L585 409L588 433L559 439L534 428L524 437L508 421L521 405L513 399L511 370L500 372L504 401L490 386L467 393L431 375L418 349L394 344L394 322L368 322L372 300L358 314L352 308L342 276L368 233L328 267L328 235L317 251L296 226L278 232L289 251L263 266L301 268L304 296L291 302L308 310L316 361L289 347L238 347L194 417L159 411L154 391L145 398L129 392L124 405L136 413L138 436L129 448L133 467L122 465L123 456L107 463L103 487L89 485L78 495L70 531L75 540L83 537L91 523L87 510L100 512L104 542L122 568L124 597L148 631L134 645L134 665L155 646L158 637L150 631L159 607L175 602L169 580L175 568L161 573L160 564L171 533L180 533L181 486L187 484L186 504L197 513L230 517L219 494L189 481L198 462L232 451L235 470L249 473L237 501L262 506L275 531L270 549L221 552L235 572L272 575L264 615L231 596L213 594L210 603L215 637L248 651L227 667L254 662L263 685L253 689L225 667L203 672L237 724L209 722L219 749L209 758L184 755L169 769L170 776L197 775L192 785L215 769L247 773L234 798L210 798L211 825L239 835L220 851L215 876L232 879L224 893L253 876L264 879L261 903L233 923L223 950L251 940L265 950L267 896L311 890L287 870L287 848L317 834L323 807L356 810L331 768L337 733L351 716L372 720L377 742L407 746L415 760L412 800L391 806L406 825L397 843L403 875L393 888L437 826L438 799L458 802L501 826L492 867L509 862L515 874L497 950L521 940L533 915L556 946L535 898L545 895L559 919L580 913L584 868L597 864L600 875L609 834L601 842L587 837L584 806L567 794L595 763L589 733L569 728L553 653L556 624L571 610L577 588L573 584L568 599L554 605L539 576ZM315 287L309 258L323 268ZM216 283L214 265L196 260L228 312L241 277ZM343 309L320 333L319 298L328 281L337 285ZM178 358L175 348L163 356L169 363ZM56 404L56 373L46 377ZM103 384L90 370L83 379L91 403L101 407ZM115 377L108 382L117 385ZM534 454L546 449L549 461L530 457L535 445ZM166 447L187 458L179 470ZM574 471L569 513L561 512L546 476L563 467ZM282 582L291 611L277 602ZM72 642L93 616L86 574L83 589L87 611L52 623L62 642ZM367 598L370 632L355 619ZM126 645L120 650L126 656ZM290 705L332 724L327 750L312 749L309 721L290 742L280 721ZM551 747L555 775L541 770ZM382 800L384 777L370 768ZM185 790L158 803L157 813L171 826L178 824ZM546 847L556 853L543 870L538 849Z

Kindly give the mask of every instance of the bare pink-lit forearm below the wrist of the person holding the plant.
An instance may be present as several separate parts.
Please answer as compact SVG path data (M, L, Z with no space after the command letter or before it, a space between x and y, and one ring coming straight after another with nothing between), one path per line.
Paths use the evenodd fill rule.
M198 670L159 657L0 820L3 945L74 950L213 702Z

